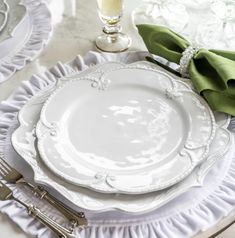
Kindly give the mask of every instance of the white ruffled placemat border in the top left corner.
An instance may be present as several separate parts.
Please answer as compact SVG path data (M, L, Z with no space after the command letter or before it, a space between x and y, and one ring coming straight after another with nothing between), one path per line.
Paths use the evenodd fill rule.
M27 40L12 52L0 59L0 83L9 79L16 71L22 69L27 62L34 60L48 42L51 32L51 14L43 0L22 0L26 6L32 29Z

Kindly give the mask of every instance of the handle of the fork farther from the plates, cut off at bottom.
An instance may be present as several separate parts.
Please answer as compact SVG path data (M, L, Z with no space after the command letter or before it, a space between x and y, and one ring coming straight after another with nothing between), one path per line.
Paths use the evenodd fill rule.
M52 231L54 231L58 237L60 238L75 238L75 235L72 230L68 230L46 216L42 213L37 207L33 205L27 206L28 214L32 217L36 217L38 220L41 221L45 226L49 227Z

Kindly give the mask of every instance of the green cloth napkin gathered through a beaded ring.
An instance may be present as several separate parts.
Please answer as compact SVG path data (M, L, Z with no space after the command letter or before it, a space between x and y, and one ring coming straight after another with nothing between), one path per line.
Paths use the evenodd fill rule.
M150 53L179 64L190 43L172 30L156 25L137 25ZM188 67L194 87L212 110L235 116L235 52L199 49Z

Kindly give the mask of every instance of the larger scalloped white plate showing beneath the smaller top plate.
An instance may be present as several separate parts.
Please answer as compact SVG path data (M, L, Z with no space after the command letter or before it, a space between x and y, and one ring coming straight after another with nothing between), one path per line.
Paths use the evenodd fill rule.
M148 63L138 63L138 65L139 64L142 66L148 65ZM115 68L120 67L120 64L106 63L99 67L102 69ZM154 68L158 69L157 66L154 66ZM94 67L93 71L96 74L99 68ZM76 75L72 77L76 78ZM65 79L65 81L66 80L67 79ZM59 81L58 84L60 83ZM35 95L21 109L18 116L20 125L12 135L12 144L16 152L31 166L36 183L56 190L75 206L86 210L93 212L118 210L130 214L141 214L152 211L188 191L190 188L202 186L203 180L210 169L217 161L226 157L226 153L233 143L233 137L226 129L230 118L225 114L215 113L216 131L209 148L209 155L189 176L176 185L168 189L138 196L128 194L104 194L78 187L51 173L37 153L35 126L39 120L44 102L54 89L55 87L52 87L40 95Z

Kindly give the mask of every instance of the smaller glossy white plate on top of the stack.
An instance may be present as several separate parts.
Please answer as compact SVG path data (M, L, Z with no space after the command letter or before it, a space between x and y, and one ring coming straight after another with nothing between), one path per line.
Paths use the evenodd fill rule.
M104 193L170 187L208 154L214 115L182 81L141 64L77 76L42 107L38 151L56 175Z

